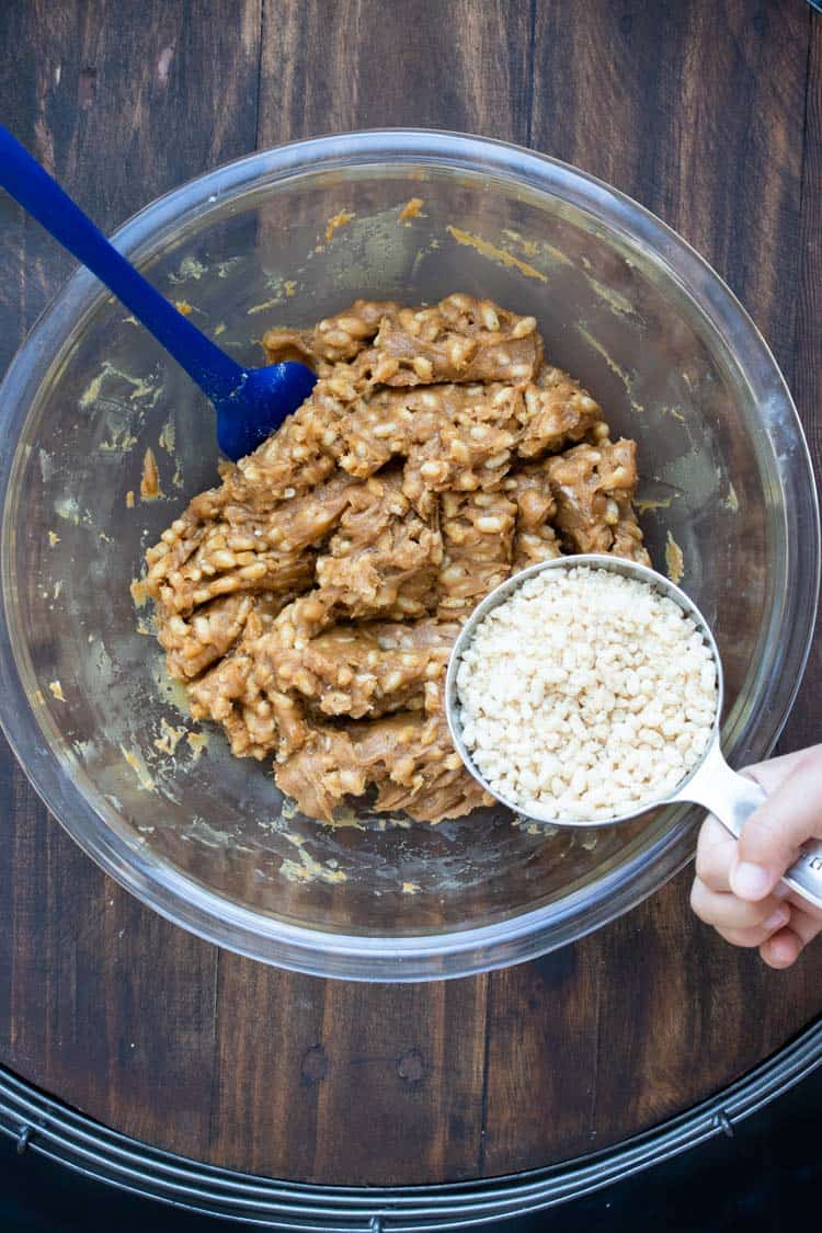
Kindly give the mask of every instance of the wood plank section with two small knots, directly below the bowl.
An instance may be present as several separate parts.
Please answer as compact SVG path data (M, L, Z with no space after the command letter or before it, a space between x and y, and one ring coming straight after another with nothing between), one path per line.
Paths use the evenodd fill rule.
M223 962L211 1158L341 1185L476 1176L486 985Z

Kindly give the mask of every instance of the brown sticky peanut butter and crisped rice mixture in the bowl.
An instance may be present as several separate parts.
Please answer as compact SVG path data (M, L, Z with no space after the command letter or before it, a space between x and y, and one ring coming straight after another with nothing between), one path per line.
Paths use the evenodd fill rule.
M458 817L486 803L442 711L460 624L563 552L647 563L636 445L543 361L532 317L488 300L357 301L262 343L319 380L149 549L169 672L304 814L371 790Z

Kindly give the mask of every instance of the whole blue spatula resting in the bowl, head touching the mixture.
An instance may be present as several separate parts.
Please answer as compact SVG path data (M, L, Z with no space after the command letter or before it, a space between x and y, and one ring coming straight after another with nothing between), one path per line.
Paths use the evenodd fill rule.
M39 163L0 125L0 186L86 265L208 395L217 441L237 461L279 428L317 380L304 364L244 369L138 274Z

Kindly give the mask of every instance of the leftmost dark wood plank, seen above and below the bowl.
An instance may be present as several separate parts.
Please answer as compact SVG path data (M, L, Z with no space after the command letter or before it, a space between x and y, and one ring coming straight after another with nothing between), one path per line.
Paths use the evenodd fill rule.
M12 4L1 21L4 121L106 229L254 144L259 0L197 21L160 0ZM71 263L4 200L6 221L7 360ZM5 742L0 767L0 1059L132 1134L206 1152L217 951L104 878Z

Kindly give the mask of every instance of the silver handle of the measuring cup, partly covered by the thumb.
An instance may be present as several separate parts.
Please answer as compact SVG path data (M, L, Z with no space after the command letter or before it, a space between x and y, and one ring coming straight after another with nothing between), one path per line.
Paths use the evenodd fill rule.
M689 789L691 785L689 785ZM751 815L759 809L767 793L748 779L737 774L727 764L718 746L705 760L700 772L694 777L693 790L686 792L689 800L705 805L718 817L722 825L737 838ZM822 842L808 840L800 854L783 877L786 887L807 899L815 907L822 909Z

